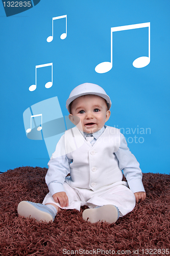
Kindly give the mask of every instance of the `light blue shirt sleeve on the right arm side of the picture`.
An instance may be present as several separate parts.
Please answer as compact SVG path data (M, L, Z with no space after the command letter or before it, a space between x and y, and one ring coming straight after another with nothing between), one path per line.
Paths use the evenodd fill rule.
M144 192L142 172L139 167L139 163L135 156L130 152L123 134L120 134L120 139L120 147L118 151L114 153L118 159L119 168L123 170L128 181L129 188L133 193Z

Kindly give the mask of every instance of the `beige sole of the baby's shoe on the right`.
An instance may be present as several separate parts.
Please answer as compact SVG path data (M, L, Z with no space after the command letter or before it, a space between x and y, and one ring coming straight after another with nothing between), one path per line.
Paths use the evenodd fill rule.
M83 211L83 220L90 223L108 222L115 223L118 219L118 211L114 205L104 205L98 208L86 209Z

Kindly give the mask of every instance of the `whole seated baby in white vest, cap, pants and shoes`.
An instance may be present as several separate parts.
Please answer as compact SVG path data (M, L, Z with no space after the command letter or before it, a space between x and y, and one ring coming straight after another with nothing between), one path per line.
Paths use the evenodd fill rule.
M48 162L49 193L42 204L20 202L19 215L53 222L61 209L80 211L87 205L85 221L114 223L145 199L141 169L124 135L105 125L110 107L109 96L96 84L72 90L66 108L75 127L61 137Z

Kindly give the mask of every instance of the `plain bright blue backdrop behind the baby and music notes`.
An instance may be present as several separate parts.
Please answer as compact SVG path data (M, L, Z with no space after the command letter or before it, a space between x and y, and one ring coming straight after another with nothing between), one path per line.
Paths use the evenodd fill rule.
M57 96L62 115L67 116L65 102L71 90L92 82L110 96L107 125L120 128L129 138L142 172L168 174L169 7L168 0L41 0L30 10L6 17L0 3L1 172L27 165L47 167L44 140L27 138L23 112ZM65 19L54 20L54 39L48 43L52 18L61 15L67 15L67 37L60 39ZM147 22L151 23L147 67L132 66L137 57L148 56L148 28L142 28L114 32L113 68L104 74L95 72L96 65L110 61L111 27ZM37 70L37 89L30 92L35 66L51 62L53 86L44 87L51 70L42 68ZM140 134L141 130L148 133Z

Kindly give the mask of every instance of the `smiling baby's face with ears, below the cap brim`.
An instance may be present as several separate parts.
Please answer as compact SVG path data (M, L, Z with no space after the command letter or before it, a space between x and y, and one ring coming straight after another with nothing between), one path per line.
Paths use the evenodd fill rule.
M84 95L75 99L71 104L71 122L77 122L76 117L81 120L83 132L95 133L102 129L110 117L105 99L96 95Z

